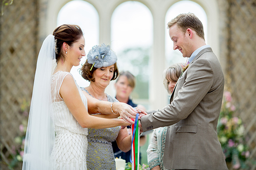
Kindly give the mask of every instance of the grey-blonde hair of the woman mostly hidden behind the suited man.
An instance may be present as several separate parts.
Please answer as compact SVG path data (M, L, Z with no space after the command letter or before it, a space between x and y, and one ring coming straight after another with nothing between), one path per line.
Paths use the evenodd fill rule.
M178 81L183 70L183 65L184 65L183 63L176 63L171 65L166 70L164 70L164 87L166 88L168 93L171 93L171 91L169 91L169 88L168 88L168 81L170 79L173 81Z

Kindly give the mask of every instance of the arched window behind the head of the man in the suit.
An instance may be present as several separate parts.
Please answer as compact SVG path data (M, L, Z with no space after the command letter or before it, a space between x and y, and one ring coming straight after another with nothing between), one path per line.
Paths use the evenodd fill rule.
M181 0L173 4L167 11L165 17L165 23L167 24L171 19L175 18L182 13L193 13L195 14L204 26L204 38L207 44L207 16L204 9L196 2L190 0ZM167 27L167 25L166 25ZM166 29L166 68L174 63L185 63L187 58L183 58L182 54L178 50L173 50L173 42L169 36L169 30Z

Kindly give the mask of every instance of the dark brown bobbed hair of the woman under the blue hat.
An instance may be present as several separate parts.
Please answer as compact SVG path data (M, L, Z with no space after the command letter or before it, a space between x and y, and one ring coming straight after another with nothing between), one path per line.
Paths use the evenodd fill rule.
M92 77L92 74L95 70L97 70L97 68L92 67L92 64L88 63L88 61L86 60L86 62L82 65L82 68L80 69L80 74L85 80L88 80L89 82L90 81L94 82L95 79ZM119 70L117 68L117 64L114 63L114 75L111 80L115 80L118 77L118 75L119 75Z

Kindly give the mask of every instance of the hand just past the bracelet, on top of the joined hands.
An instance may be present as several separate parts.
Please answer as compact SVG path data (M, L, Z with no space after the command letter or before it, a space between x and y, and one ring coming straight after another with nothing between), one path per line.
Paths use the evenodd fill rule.
M127 123L134 124L131 118L136 118L138 111L135 108L123 102L115 102L112 106L114 113L119 113L121 118Z

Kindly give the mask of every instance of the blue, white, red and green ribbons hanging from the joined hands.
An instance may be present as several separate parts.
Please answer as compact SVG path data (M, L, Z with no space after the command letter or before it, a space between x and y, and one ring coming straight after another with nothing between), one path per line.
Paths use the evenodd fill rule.
M136 114L135 123L132 125L132 145L130 162L132 163L132 170L139 170L139 158L140 158L140 134L138 125L139 114ZM134 120L134 119L132 119Z

